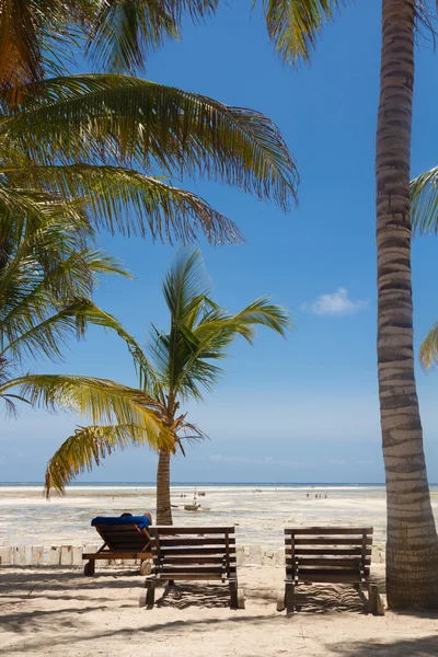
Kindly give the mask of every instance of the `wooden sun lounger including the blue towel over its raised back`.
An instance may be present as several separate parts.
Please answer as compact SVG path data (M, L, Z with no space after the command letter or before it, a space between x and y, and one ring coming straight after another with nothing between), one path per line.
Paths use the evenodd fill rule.
M94 575L97 560L135 558L141 562L140 573L150 573L150 565L146 560L152 558L150 550L150 525L145 516L124 516L120 518L105 518L103 516L91 521L104 544L97 552L82 554L83 560L89 560L83 568L84 575ZM148 569L149 568L149 569Z

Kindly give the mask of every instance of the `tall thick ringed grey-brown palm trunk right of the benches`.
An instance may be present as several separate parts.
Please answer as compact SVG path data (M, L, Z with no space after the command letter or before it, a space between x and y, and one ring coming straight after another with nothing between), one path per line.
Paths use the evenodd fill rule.
M438 538L414 374L410 161L414 0L382 0L377 128L378 364L393 609L438 607Z

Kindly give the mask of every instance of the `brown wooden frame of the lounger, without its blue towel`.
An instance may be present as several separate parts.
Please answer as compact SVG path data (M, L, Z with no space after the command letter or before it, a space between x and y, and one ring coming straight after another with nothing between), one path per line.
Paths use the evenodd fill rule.
M94 527L104 544L97 552L82 554L83 560L89 560L83 568L84 575L94 575L96 561L115 558L139 560L140 574L150 573L150 564L146 560L152 558L151 538L147 529L139 529L137 525L95 525Z

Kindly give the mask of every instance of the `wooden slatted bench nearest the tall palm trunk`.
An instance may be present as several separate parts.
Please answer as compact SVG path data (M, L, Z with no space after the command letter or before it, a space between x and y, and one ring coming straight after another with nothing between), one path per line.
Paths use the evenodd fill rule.
M368 609L381 614L377 584L369 580L372 527L308 527L285 529L286 580L277 611L293 612L300 584L351 584L368 589Z

